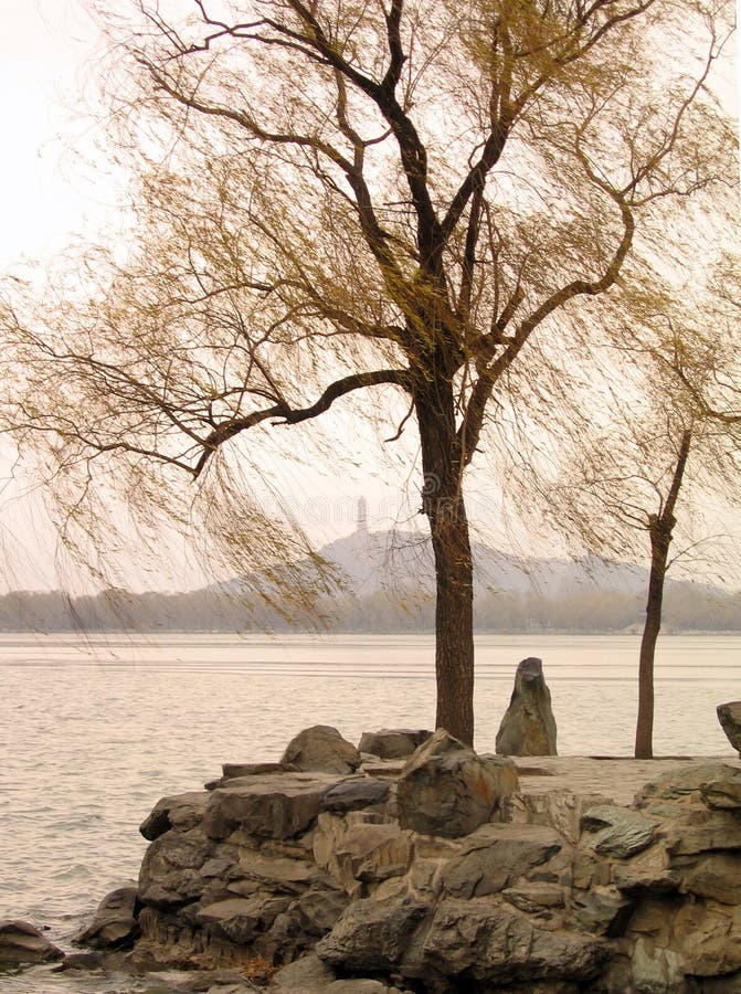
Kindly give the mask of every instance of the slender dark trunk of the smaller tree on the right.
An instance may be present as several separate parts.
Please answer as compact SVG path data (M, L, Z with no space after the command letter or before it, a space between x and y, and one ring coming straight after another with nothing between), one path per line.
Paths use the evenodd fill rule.
M669 546L671 544L671 536L676 525L674 509L685 475L691 437L690 430L682 434L666 504L659 515L650 515L648 519L650 574L648 578L646 622L638 657L638 718L636 721L634 753L636 759L653 759L654 757L654 657L656 655L656 642L661 631L664 582L669 559Z

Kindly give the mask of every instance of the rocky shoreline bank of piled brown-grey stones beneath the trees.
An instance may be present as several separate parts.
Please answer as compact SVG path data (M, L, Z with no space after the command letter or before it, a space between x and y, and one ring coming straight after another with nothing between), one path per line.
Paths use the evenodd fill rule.
M3 922L0 961L214 994L741 992L735 759L515 761L315 727L140 831L92 952Z

